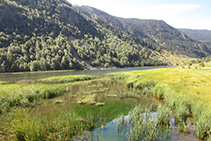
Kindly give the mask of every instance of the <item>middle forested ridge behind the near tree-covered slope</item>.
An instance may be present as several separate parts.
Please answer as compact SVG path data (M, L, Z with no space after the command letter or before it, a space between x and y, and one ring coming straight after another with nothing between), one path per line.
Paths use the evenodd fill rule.
M169 26L164 21L124 19L111 16L88 6L76 6L75 8L90 18L103 20L146 41L154 42L169 52L176 52L189 57L205 57L211 54L206 45L189 38L183 32Z

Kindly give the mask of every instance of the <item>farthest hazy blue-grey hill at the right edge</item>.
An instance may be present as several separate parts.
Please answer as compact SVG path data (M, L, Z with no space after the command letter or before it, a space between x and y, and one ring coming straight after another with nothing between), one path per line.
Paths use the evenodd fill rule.
M210 30L193 30L179 29L194 40L199 40L211 50L211 31Z

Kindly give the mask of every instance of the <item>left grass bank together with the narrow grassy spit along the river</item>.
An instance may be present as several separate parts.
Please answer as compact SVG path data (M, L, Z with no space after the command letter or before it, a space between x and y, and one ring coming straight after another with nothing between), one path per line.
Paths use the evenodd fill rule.
M2 84L0 85L0 113L9 111L13 106L27 106L41 98L50 99L61 96L71 85L66 83L81 83L81 81L96 78L97 76L90 75L71 75L40 79L34 84Z

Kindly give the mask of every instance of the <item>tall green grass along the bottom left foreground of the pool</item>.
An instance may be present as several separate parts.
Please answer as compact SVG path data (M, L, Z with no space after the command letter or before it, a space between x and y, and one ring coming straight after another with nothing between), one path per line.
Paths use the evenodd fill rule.
M84 118L74 112L61 113L49 119L40 115L31 116L23 110L10 114L8 127L19 141L70 140L74 135L94 127L92 115Z

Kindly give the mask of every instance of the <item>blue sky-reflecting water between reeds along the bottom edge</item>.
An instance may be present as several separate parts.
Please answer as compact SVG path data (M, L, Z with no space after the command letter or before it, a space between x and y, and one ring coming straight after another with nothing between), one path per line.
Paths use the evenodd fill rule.
M156 122L157 120L157 112L152 112L151 118ZM146 120L146 114L144 113L144 119ZM127 126L123 130L119 130L118 128L118 123L119 121L122 120L122 118L117 118L114 119L113 121L107 123L106 125L103 125L100 128L95 128L93 131L88 132L85 131L83 137L75 137L73 140L103 140L103 141L122 141L122 140L130 140L129 135L133 136L133 133L131 134L131 129L132 129L132 123L130 123L130 116L127 115L124 117L124 120L127 122ZM171 123L171 128L169 129L169 136L166 137L165 134L158 134L158 139L159 141L199 141L197 139L197 134L194 130L194 126L191 123L188 123L191 126L189 129L186 131L186 134L181 133L179 131L179 128L176 126L175 119L171 117L170 123ZM142 138L144 139L144 137ZM141 139L141 140L142 140Z

